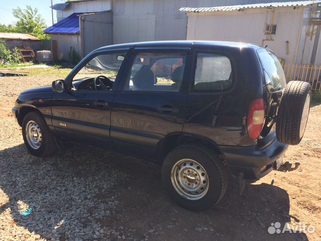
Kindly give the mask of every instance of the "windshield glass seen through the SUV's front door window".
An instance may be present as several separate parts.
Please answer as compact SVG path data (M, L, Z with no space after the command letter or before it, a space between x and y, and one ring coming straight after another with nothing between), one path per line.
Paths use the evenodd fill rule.
M73 80L96 77L98 75L104 75L109 79L115 79L124 56L124 54L98 55L82 67Z

